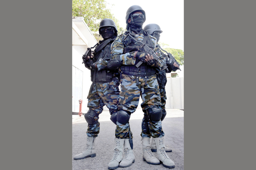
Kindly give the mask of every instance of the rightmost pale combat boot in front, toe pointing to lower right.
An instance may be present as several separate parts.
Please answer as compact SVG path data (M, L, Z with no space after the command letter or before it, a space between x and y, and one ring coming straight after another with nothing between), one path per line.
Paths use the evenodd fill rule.
M163 137L156 137L154 138L156 141L156 148L157 148L157 156L160 161L160 163L163 163L163 166L166 168L174 168L175 164L174 162L168 157L168 155L165 152L165 143Z

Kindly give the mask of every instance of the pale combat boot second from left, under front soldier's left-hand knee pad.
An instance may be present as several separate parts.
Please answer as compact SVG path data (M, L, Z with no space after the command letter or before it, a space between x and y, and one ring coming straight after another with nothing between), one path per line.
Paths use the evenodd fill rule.
M124 148L124 139L115 138L115 153L108 164L108 169L116 169L122 161L122 150Z

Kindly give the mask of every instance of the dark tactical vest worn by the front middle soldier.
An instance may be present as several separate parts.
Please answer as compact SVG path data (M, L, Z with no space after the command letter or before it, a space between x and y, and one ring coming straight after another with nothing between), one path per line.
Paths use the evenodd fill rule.
M133 51L137 51L137 46L140 46L141 44L138 42L135 42L132 38L129 36L127 37L129 31L126 31L124 34L126 35L126 38L124 42L124 53L129 53ZM130 33L131 35L134 35L133 33ZM154 44L152 40L150 40L147 36L147 32L143 31L144 39L143 41L146 41L147 44L149 45L150 48L154 49ZM146 44L146 43L145 43ZM156 69L154 67L148 66L146 63L143 63L137 68L135 65L139 62L139 60L136 60L134 65L123 65L121 66L121 72L126 74L126 75L134 75L134 76L150 76L150 75L155 75L156 74Z

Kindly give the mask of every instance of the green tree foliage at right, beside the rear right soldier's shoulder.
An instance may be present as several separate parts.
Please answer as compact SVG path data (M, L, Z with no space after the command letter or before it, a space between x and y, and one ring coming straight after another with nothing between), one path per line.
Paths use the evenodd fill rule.
M161 48L163 48L165 51L167 51L168 53L171 53L173 55L173 57L176 59L176 61L180 64L183 65L184 64L184 51L182 49L174 49L174 48L169 48L169 45L164 44L159 42L158 43ZM163 51L164 52L164 51ZM165 53L165 52L164 52Z

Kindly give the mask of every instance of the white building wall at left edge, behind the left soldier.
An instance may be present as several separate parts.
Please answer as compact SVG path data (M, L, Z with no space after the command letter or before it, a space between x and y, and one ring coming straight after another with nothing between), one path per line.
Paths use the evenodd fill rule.
M72 96L72 112L79 112L79 99L83 100L82 113L86 113L88 110L87 95L92 83L91 71L82 64L82 56L88 47L92 47L96 43L95 37L83 18L72 17L72 95L75 95ZM78 90L80 82L82 82L82 90Z

